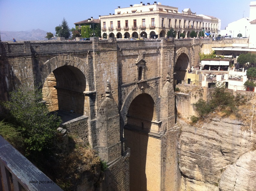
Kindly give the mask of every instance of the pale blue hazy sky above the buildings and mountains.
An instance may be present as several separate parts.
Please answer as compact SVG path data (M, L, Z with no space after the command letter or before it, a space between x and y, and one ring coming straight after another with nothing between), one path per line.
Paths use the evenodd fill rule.
M141 0L143 1L143 0ZM154 1L143 1L153 4ZM229 23L249 17L251 0L162 0L162 5L178 7L179 12L190 8L196 14L206 14L221 19L221 29ZM129 7L139 0L0 0L0 31L29 31L42 29L55 34L55 27L63 18L69 28L85 19L114 13L117 6Z

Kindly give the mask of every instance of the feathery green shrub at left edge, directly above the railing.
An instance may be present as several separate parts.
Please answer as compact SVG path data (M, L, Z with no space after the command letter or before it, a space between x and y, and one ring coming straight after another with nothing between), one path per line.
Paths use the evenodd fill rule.
M0 135L15 148L20 148L23 145L21 133L12 124L0 121Z

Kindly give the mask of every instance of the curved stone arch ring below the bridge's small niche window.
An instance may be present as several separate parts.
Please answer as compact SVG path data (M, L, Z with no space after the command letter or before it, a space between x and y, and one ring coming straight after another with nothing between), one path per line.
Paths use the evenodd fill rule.
M156 120L157 121L160 120L160 98L159 98L157 92L154 90L153 87L151 87L149 85L147 85L147 87L143 87L143 89L141 89L141 88L142 87L139 87L139 86L134 87L133 90L124 99L124 102L123 102L123 105L122 105L122 108L120 111L121 118L123 121L123 124L121 124L121 128L123 128L122 126L124 125L124 122L126 120L126 115L127 115L128 109L129 109L132 101L134 100L134 98L136 98L141 93L147 93L152 97L154 104L155 104L155 108L156 108Z

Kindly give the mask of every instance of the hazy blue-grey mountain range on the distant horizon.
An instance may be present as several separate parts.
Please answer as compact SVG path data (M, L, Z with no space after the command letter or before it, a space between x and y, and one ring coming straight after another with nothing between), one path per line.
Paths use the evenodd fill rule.
M47 31L41 29L33 29L32 31L0 31L2 41L13 41L13 38L16 41L38 41L38 40L47 40L44 38Z

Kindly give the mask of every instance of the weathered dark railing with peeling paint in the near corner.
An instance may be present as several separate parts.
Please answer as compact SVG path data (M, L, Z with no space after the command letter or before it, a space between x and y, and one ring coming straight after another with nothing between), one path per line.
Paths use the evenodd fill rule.
M63 191L1 136L0 146L0 190L11 191L13 186L15 191Z

